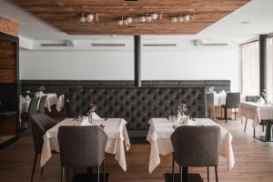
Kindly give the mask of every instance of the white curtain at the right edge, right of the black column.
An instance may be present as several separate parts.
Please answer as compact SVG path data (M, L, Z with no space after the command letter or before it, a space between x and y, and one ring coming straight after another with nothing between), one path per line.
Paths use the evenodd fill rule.
M268 101L273 102L273 37L268 38L268 57L267 57L267 74L268 74Z

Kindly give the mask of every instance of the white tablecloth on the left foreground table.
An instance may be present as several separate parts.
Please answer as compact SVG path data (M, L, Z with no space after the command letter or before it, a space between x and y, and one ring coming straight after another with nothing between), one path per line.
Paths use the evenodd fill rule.
M108 136L106 143L106 153L115 154L115 158L126 171L126 156L125 148L128 150L130 148L130 140L126 130L126 120L122 118L108 118L106 121L104 119L94 120L95 125L103 124L105 126L104 130ZM77 125L78 121L73 118L66 118L56 126L49 129L44 136L44 146L41 155L40 166L43 167L45 163L51 157L51 151L55 150L59 152L59 145L57 140L57 132L59 126L74 126Z

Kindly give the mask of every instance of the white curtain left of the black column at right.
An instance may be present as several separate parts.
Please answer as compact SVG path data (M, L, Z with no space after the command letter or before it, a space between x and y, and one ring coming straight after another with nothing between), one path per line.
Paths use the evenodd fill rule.
M258 41L241 45L242 94L259 96L259 45Z

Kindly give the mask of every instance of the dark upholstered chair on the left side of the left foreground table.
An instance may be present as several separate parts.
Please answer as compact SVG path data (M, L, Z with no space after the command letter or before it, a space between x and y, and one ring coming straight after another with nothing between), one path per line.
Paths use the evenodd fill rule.
M35 174L35 166L37 162L37 157L42 153L42 148L44 144L43 136L45 132L51 127L56 125L56 121L53 120L50 116L46 116L45 114L36 114L31 116L30 118L31 126L32 126L32 136L35 148L35 160L33 163L32 174L31 174L31 182L33 181L33 177ZM41 169L41 175L43 174L43 167Z

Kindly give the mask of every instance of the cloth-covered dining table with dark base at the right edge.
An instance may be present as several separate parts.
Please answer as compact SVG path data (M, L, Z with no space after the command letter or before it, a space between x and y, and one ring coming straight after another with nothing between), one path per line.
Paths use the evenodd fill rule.
M239 115L253 120L254 137L263 142L273 142L272 124L273 124L273 105L259 102L241 102L239 104ZM267 128L265 136L256 136L255 128L266 121Z

